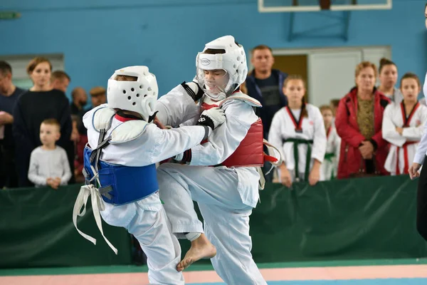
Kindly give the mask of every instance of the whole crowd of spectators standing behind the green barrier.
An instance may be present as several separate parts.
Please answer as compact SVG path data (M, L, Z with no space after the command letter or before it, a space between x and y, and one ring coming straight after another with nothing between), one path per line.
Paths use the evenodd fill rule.
M355 86L337 94L330 105L307 102L307 83L297 74L273 69L271 48L253 48L243 93L260 101L264 138L275 145L283 164L265 180L291 187L295 181L318 181L374 175L406 175L427 120L426 100L418 102L421 83L382 58L379 68L363 61L355 66ZM88 142L82 123L86 90L71 90L64 71L52 71L47 58L33 58L26 69L33 86L14 86L12 68L0 61L0 189L82 183L83 149ZM376 81L379 80L379 86ZM90 91L91 108L106 103L106 90Z

